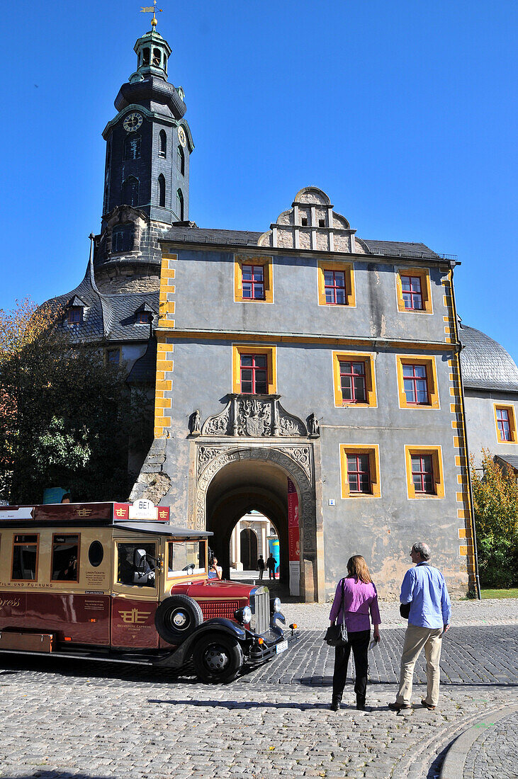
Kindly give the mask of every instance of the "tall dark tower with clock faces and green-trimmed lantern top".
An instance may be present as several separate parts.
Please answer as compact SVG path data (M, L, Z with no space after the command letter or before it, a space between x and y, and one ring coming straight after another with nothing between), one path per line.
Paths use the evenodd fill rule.
M136 41L137 68L115 98L106 141L103 215L95 240L97 286L107 293L158 288L161 238L189 224L185 94L167 81L171 48L152 30Z

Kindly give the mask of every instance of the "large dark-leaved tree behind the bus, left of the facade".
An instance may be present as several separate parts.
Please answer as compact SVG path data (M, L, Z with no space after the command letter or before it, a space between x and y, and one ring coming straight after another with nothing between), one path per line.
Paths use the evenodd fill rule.
M0 497L41 502L62 486L76 501L127 499L129 431L147 437L149 402L102 348L71 346L61 319L30 301L0 311Z

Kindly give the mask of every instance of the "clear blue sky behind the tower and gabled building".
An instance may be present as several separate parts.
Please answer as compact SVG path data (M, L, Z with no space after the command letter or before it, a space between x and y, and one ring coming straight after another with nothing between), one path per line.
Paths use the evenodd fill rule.
M266 230L317 185L361 238L458 255L463 322L518 361L514 0L159 7L196 144L199 227ZM100 230L100 132L150 29L139 8L20 0L4 14L0 308L83 277Z

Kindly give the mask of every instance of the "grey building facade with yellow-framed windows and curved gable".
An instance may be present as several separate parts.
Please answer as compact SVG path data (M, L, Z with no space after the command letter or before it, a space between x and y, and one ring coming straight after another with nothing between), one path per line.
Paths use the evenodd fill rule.
M315 187L264 233L176 225L162 245L155 442L132 497L213 530L224 571L235 523L259 510L287 578L289 479L306 600L326 597L354 553L395 596L421 537L465 592L454 261L358 238Z

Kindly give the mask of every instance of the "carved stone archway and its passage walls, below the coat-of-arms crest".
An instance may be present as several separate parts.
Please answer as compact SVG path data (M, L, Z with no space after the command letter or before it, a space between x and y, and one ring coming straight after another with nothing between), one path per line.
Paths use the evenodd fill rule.
M227 577L229 543L238 520L251 509L268 516L280 541L280 578L290 578L288 559L287 481L299 503L300 597L323 600L322 512L317 511L313 442L196 442L196 520L214 533L210 545Z

